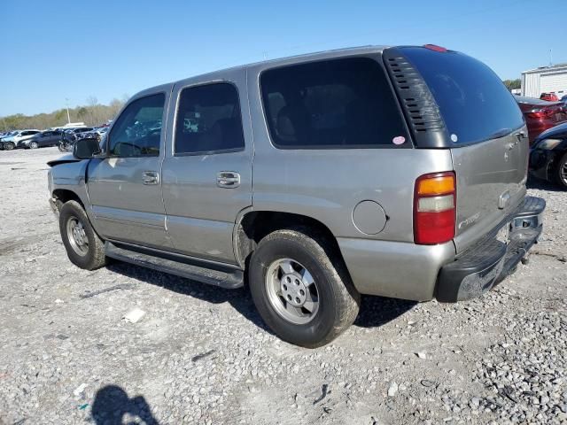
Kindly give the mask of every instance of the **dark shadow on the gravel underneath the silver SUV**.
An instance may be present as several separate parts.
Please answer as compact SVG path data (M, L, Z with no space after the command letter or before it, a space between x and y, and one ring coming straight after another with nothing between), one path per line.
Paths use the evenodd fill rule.
M250 293L245 288L238 290L225 290L223 288L207 285L206 283L194 282L183 277L172 274L161 273L145 267L138 267L128 263L114 262L108 269L137 279L152 285L160 286L166 290L172 290L178 294L198 298L211 304L229 303L242 314L247 320L266 332L274 333L264 324L256 307L252 303ZM382 298L363 296L361 300L361 312L354 326L361 328L375 328L393 321L401 314L411 310L417 303L395 298Z

